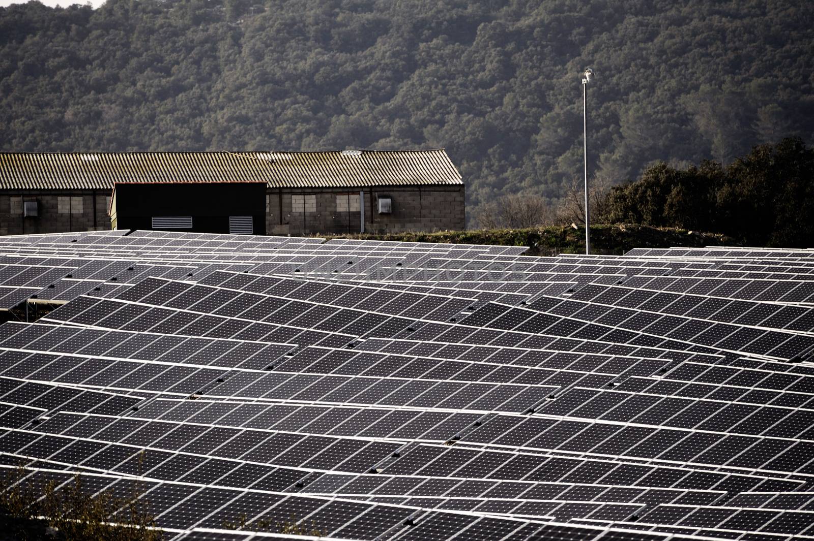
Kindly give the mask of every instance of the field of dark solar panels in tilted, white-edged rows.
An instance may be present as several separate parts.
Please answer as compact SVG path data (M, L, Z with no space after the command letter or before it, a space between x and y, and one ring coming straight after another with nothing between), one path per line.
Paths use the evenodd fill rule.
M522 253L0 237L2 467L167 539L814 539L814 251Z

